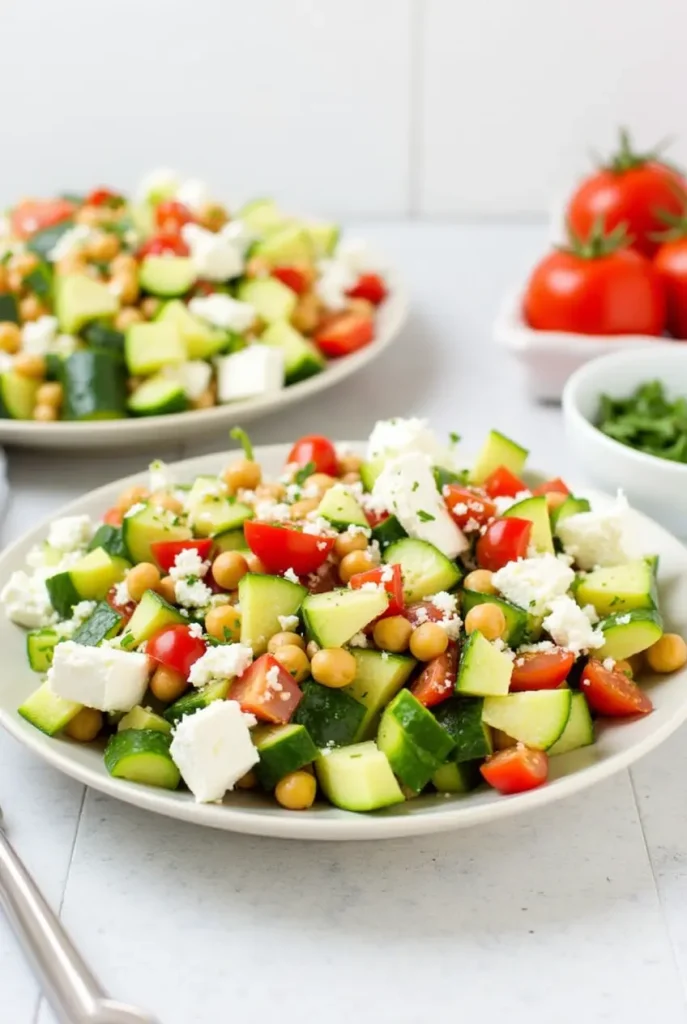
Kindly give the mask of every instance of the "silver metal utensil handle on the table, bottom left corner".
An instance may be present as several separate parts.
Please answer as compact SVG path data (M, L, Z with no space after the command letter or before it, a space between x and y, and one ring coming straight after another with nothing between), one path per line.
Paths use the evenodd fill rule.
M0 827L0 903L60 1024L156 1024L108 998Z

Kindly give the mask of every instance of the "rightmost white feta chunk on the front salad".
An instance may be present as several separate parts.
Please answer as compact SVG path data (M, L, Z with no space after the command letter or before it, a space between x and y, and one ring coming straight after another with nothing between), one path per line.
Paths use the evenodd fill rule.
M620 565L637 555L630 506L619 492L605 512L577 512L558 523L565 552L581 569Z

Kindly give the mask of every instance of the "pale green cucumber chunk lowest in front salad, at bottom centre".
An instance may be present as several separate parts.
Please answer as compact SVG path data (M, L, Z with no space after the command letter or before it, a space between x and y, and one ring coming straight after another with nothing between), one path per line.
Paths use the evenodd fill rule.
M404 800L386 755L374 740L323 752L315 770L325 796L345 811L376 811Z

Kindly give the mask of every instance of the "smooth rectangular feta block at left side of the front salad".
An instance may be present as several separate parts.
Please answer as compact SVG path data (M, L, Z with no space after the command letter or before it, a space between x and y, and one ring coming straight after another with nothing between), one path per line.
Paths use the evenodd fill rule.
M131 711L143 699L147 677L145 654L65 640L54 649L47 679L66 700L98 711Z

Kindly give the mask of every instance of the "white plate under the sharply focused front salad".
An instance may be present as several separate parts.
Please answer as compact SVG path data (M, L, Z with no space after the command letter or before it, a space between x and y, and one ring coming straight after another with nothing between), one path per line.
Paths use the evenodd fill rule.
M256 449L256 457L267 473L275 474L284 465L289 446ZM198 473L216 473L227 462L225 454L203 456L176 464L178 479ZM114 503L125 486L144 482L144 475L130 476L80 498L59 515L88 513L99 516ZM577 492L575 492L577 493ZM587 492L599 506L609 501L604 495ZM51 518L54 518L52 516ZM660 556L659 592L667 628L687 635L687 550L651 520L637 513L645 550ZM10 572L22 568L32 545L43 540L48 523L32 529L0 557L0 584ZM468 827L508 817L560 800L593 786L627 768L662 742L687 718L687 670L649 682L655 711L646 718L604 724L594 746L551 760L551 780L547 785L516 797L500 797L479 790L462 797L426 796L375 814L352 814L319 804L306 812L282 810L256 794L235 793L223 804L196 804L187 793L169 793L112 778L104 769L99 750L66 738L50 738L25 722L16 709L38 684L29 669L24 630L0 620L0 649L3 652L0 686L0 724L45 761L81 782L148 811L181 818L213 828L301 840L392 839ZM590 800L593 800L590 795Z

